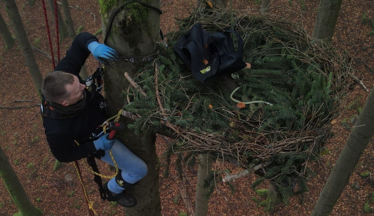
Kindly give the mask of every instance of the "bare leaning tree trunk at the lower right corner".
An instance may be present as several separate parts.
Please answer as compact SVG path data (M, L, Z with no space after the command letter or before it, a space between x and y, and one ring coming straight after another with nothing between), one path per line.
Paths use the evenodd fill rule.
M354 171L366 146L374 133L374 90L352 129L350 136L339 158L331 171L312 216L328 216L335 206L340 194L347 185L351 173Z

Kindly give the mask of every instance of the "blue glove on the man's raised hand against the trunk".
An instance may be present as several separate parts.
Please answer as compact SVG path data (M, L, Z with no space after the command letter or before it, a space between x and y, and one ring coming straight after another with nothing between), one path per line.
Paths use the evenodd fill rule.
M101 44L97 41L93 41L88 44L88 50L92 53L96 60L107 65L109 62L117 61L119 58L116 50L110 48L105 44Z

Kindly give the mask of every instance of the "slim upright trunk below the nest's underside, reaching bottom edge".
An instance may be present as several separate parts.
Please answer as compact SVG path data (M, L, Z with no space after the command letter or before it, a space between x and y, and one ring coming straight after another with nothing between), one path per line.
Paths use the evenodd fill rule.
M204 187L204 185L210 171L211 163L211 156L208 154L199 155L196 181L195 216L206 216L208 214L209 188Z

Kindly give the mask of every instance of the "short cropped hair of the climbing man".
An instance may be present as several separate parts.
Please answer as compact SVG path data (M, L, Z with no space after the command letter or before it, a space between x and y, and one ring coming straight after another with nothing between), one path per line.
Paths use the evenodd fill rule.
M49 101L61 103L68 97L65 86L73 83L74 75L63 71L54 71L44 77L41 83L41 93Z

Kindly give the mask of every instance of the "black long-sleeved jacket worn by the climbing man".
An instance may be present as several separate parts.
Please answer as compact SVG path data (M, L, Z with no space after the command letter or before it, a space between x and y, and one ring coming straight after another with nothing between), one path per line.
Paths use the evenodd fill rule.
M92 41L98 41L94 35L87 32L78 34L66 52L66 56L57 64L54 71L71 73L82 81L79 71L90 55L87 45ZM91 92L87 89L85 91L87 93L86 106L78 111L77 115L70 118L43 116L44 132L49 148L60 162L75 161L88 155L98 156L89 135L106 120L106 117L97 99L91 99ZM74 140L79 142L79 146ZM103 151L100 150L99 153Z

